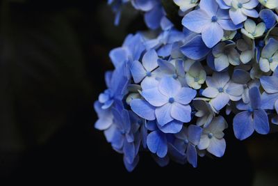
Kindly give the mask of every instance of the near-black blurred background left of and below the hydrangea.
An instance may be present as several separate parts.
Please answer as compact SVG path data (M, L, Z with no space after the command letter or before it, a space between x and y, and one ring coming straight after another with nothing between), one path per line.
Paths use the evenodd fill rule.
M140 13L124 8L114 26L104 0L6 0L0 16L0 183L278 185L277 133L238 141L231 119L222 158L161 168L140 153L126 171L92 105L113 69L109 50L146 29Z

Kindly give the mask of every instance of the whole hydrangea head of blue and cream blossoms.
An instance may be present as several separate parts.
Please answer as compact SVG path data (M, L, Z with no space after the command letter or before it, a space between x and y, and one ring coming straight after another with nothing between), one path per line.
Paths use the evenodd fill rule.
M127 170L141 150L161 166L222 157L231 113L240 140L278 124L277 0L174 0L183 31L161 1L131 3L160 33L129 35L111 51L115 70L106 72L108 89L95 102L95 127L124 155Z

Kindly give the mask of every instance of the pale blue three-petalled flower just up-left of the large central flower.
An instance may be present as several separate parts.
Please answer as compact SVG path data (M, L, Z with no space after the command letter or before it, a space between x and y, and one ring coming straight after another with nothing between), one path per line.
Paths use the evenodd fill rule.
M143 89L152 88L156 86L155 78L156 72L154 70L158 67L158 56L154 49L147 51L142 57L142 63L133 61L131 63L131 75L136 84L141 82Z

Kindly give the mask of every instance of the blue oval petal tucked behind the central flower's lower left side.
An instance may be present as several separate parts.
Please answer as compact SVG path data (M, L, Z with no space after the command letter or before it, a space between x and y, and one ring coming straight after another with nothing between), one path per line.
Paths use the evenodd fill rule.
M155 107L145 100L134 99L130 103L131 109L141 118L152 121L156 119L154 114Z

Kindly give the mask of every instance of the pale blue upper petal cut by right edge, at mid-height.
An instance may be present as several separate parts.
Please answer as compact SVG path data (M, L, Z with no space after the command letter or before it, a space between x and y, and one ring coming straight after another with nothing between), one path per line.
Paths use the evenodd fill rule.
M267 93L278 93L278 77L262 76L260 78L261 86Z

